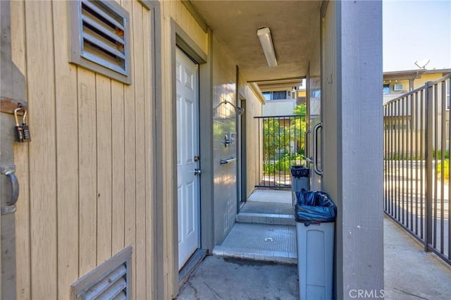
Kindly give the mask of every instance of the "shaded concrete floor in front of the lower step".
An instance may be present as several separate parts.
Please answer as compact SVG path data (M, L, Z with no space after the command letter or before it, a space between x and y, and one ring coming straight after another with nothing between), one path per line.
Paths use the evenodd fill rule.
M299 299L298 285L296 265L206 256L177 299Z

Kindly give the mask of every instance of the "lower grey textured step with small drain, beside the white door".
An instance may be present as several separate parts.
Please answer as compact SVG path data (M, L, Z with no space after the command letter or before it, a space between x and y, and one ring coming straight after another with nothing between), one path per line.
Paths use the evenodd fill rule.
M213 254L255 261L297 264L296 227L292 225L235 223Z

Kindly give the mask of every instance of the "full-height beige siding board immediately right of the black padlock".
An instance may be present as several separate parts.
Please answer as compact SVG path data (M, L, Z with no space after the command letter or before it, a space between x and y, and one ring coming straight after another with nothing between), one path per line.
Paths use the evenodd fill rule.
M58 83L54 73L54 39L49 38L53 36L52 19L51 2L25 2L25 76L33 139L29 148L33 299L56 299L58 289L54 93Z

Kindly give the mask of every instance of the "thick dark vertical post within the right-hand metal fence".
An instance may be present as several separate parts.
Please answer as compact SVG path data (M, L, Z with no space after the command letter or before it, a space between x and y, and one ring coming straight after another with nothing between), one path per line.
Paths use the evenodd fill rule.
M426 228L424 237L424 251L429 251L429 245L432 244L432 190L433 190L433 90L430 82L425 84L426 101Z

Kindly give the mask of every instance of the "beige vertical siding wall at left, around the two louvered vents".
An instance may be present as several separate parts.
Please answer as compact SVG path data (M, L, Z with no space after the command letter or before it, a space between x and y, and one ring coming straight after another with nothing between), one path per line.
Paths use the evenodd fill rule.
M11 1L32 134L15 149L18 299L68 299L75 280L128 245L133 298L152 299L152 14L123 6L130 86L68 63L67 1Z

